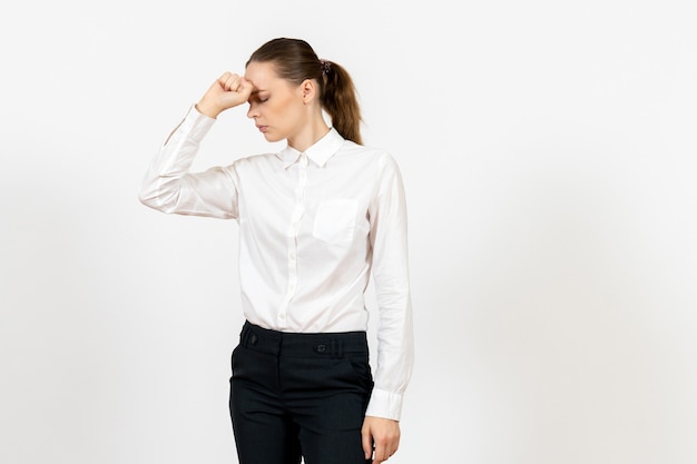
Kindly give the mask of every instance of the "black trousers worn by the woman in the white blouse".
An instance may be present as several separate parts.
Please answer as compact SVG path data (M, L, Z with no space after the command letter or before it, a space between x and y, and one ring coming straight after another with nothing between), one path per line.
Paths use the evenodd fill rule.
M365 464L373 388L365 332L288 334L245 323L229 409L240 464Z

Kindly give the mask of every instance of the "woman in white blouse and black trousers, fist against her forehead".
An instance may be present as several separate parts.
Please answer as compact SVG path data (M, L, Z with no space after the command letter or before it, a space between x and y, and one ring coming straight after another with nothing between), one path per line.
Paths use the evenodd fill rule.
M286 148L189 172L216 117L246 102L266 140ZM210 86L145 177L149 207L239 224L246 323L229 406L242 464L381 463L397 450L413 363L406 209L394 159L361 145L360 122L344 68L303 40L274 39L244 76L225 72Z

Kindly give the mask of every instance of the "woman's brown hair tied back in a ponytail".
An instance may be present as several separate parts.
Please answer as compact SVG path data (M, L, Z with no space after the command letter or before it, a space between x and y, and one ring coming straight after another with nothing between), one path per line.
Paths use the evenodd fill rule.
M320 87L322 108L341 136L356 144L361 138L361 108L348 72L333 61L321 60L310 43L278 38L259 47L247 61L272 62L278 77L295 85L314 79Z

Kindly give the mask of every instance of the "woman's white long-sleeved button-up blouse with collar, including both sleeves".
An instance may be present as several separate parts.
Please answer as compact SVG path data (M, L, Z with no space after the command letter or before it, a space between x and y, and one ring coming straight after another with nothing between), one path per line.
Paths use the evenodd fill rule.
M399 419L413 364L406 205L385 151L335 130L300 152L189 172L215 119L192 107L153 159L140 201L164 213L236 219L242 308L252 324L295 333L366 330L372 273L375 386L366 415Z

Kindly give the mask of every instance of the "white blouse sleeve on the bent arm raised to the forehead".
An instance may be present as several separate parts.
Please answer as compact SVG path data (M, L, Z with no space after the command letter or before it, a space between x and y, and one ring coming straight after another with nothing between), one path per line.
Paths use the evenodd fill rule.
M140 201L163 213L236 218L237 189L232 168L189 168L215 119L192 107L154 157L143 179Z

